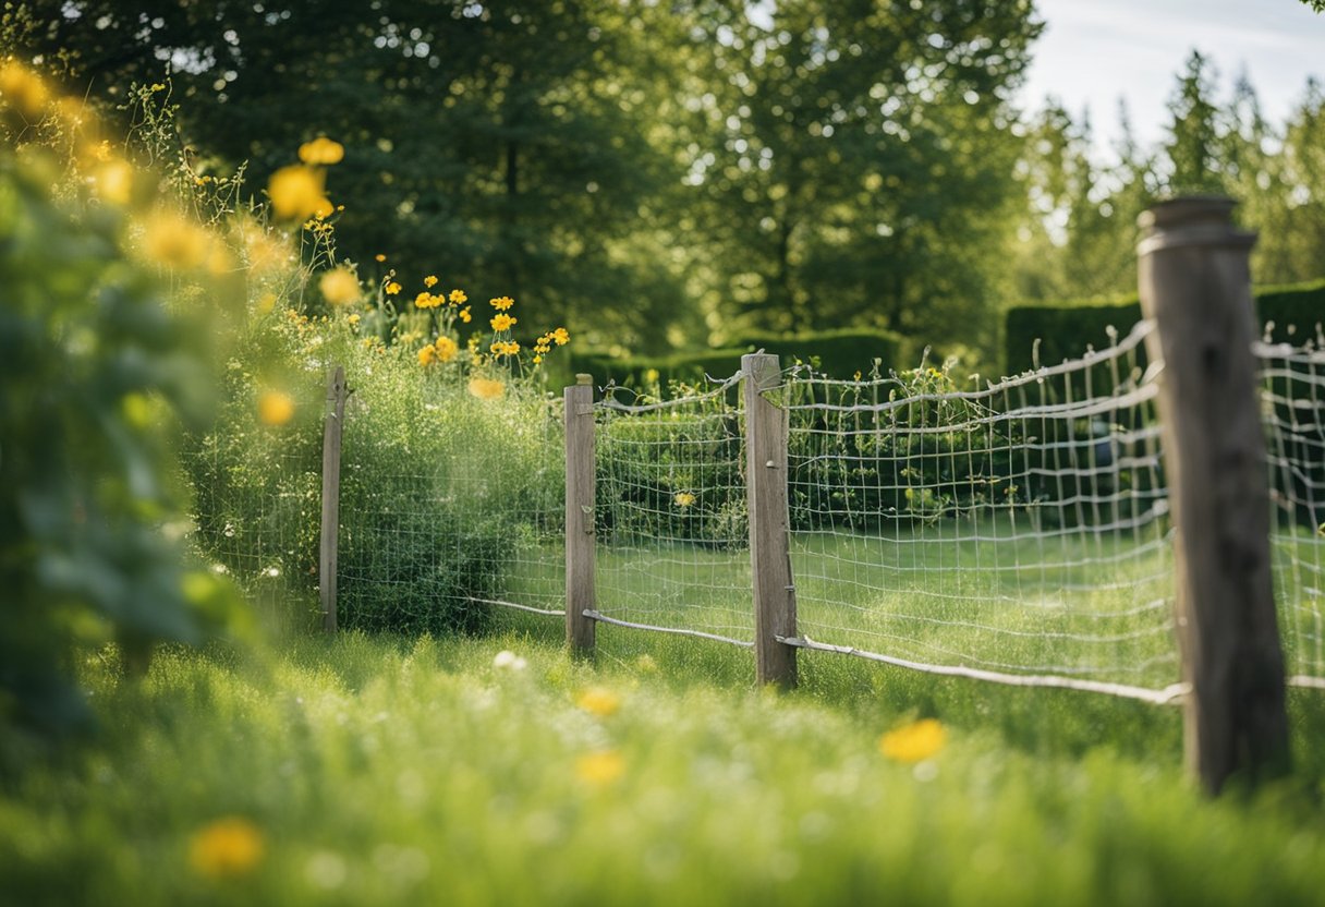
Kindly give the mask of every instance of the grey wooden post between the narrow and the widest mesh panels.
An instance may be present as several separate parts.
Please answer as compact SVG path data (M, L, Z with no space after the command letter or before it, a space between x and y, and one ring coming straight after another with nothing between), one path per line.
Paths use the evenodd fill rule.
M759 683L796 686L796 589L787 549L787 411L763 398L782 379L778 357L741 357L745 373L746 493L754 572L754 652Z

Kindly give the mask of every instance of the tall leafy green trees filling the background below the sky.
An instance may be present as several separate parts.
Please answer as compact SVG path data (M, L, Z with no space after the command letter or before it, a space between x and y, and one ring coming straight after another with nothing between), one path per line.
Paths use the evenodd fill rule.
M1318 86L1268 123L1194 53L1166 139L1124 130L1101 154L1088 118L1011 105L1028 0L24 0L3 19L93 98L168 70L199 174L248 162L256 190L299 142L342 141L330 188L362 274L513 294L596 346L871 326L990 353L1007 302L1129 292L1136 215L1171 191L1242 199L1260 280L1318 276L1325 251Z

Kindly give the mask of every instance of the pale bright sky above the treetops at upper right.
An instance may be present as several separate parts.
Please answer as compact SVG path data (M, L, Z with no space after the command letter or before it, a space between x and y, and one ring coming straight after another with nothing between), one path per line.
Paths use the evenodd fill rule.
M1192 49L1212 58L1218 98L1251 78L1261 110L1281 125L1306 77L1325 81L1325 13L1300 0L1035 0L1047 25L1032 54L1023 109L1056 97L1073 118L1089 107L1097 149L1118 137L1118 98L1143 145L1165 137L1166 102Z

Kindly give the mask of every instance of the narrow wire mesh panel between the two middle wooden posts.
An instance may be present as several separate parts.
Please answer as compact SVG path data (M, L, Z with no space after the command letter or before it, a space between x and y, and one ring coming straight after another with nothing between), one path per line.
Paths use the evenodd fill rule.
M598 611L749 644L739 375L673 400L596 404Z

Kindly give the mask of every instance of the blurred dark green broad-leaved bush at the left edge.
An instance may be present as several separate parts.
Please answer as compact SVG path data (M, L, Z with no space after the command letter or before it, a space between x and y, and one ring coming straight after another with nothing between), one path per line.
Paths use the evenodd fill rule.
M182 542L174 440L208 410L209 306L170 304L183 284L130 251L131 210L52 198L57 167L0 150L0 725L54 733L90 720L81 654L117 642L142 668L237 618Z

